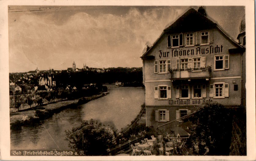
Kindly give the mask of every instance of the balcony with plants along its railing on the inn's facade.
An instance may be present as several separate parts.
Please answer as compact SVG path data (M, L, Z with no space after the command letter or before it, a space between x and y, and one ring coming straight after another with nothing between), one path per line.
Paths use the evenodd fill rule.
M189 69L169 69L171 80L179 79L210 79L211 67L189 68Z

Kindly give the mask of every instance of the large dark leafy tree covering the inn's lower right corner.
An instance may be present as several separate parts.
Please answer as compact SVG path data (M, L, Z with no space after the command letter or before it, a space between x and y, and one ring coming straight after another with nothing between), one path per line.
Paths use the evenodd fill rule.
M231 110L217 102L202 104L189 119L192 143L198 145L198 154L229 155L232 132Z

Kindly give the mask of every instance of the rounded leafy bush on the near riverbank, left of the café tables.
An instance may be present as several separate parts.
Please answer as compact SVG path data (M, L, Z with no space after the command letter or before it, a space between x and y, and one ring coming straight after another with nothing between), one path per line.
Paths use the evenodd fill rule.
M84 150L87 156L107 155L107 149L112 146L112 130L101 122L83 121L78 128L66 131L69 147L74 150Z

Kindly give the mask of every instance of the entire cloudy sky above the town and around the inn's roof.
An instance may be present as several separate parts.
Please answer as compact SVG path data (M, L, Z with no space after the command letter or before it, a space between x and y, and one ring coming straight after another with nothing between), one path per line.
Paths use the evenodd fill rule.
M142 67L142 51L199 6L9 6L9 72ZM204 6L233 39L244 6Z

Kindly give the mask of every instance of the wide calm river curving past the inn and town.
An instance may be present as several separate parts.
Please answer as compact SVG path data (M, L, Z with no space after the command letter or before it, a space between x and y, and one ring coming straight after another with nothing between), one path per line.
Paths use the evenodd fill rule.
M80 105L65 109L34 126L11 130L11 149L70 149L65 141L65 130L81 124L83 120L96 119L118 131L139 114L145 102L145 88L109 88L109 94Z

